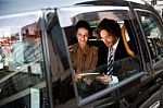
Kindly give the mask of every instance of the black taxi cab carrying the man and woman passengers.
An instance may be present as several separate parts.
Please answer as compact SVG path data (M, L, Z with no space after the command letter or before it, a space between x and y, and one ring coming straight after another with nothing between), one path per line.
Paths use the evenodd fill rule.
M10 12L1 7L0 108L163 107L163 22L153 7L141 0L47 2ZM120 25L128 53L114 61L115 84L97 80L106 68L108 47L96 33L103 19ZM98 61L76 74L70 51L82 20L90 24L87 43L98 48Z

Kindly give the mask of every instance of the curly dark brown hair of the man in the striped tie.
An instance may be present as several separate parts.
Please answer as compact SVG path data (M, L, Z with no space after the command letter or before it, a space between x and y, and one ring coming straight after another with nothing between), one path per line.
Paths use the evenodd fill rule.
M99 23L99 25L96 29L98 37L100 37L100 32L102 29L110 32L113 36L121 37L121 27L120 27L118 23L116 23L114 20L103 19Z

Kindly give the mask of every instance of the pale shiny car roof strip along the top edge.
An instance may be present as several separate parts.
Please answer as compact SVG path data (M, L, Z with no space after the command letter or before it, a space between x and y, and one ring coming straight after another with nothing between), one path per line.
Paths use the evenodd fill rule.
M91 2L90 2L91 1ZM47 8L62 8L71 7L75 4L88 4L93 2L108 2L108 3L117 3L117 2L136 2L143 4L141 0L0 0L0 15L23 13L38 11L40 9Z

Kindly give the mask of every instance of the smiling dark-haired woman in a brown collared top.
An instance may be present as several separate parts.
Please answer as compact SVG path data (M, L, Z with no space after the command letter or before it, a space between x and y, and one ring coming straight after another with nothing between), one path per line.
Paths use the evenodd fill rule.
M92 70L98 61L98 48L87 45L90 35L90 25L86 21L78 21L76 26L76 44L71 46L70 52L76 74Z

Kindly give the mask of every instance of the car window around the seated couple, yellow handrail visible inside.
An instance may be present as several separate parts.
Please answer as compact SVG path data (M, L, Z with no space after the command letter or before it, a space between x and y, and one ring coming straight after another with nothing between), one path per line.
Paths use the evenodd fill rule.
M101 39L97 37L96 34L96 28L103 19L114 20L116 23L118 23L122 32L121 38L123 39L123 45L125 46L125 50L128 53L128 57L114 60L113 79L114 76L116 76L116 83L103 84L97 79L98 76L103 75L103 72L108 67L108 63L105 63L104 61L108 59L109 48L104 45L104 43ZM71 61L73 67L72 74L73 77L75 77L75 93L79 106L103 97L104 95L121 87L127 82L130 82L134 79L140 76L140 73L142 71L139 50L136 47L137 43L135 40L134 28L131 26L134 17L131 16L128 10L104 10L99 12L92 11L88 13L74 13L71 16L70 25L61 25L61 27L63 27L63 32L65 34L70 51L74 50L72 49L72 46L74 46L74 44L77 44L75 24L80 20L87 21L91 26L91 35L89 36L87 44L89 46L98 48L98 60L93 69L85 70L79 74L76 73L76 70L73 67L74 62ZM62 17L59 16L59 21L62 21ZM123 51L121 52L118 53L117 58L120 58L120 56L123 56ZM76 52L75 56L77 55L78 53ZM71 56L71 52L70 57L72 60L73 56ZM75 59L77 59L77 57ZM80 62L80 64L86 64L82 60ZM77 76L80 76L82 79L78 80L76 79ZM91 80L91 84L86 83L85 80Z

